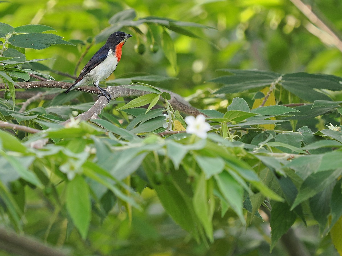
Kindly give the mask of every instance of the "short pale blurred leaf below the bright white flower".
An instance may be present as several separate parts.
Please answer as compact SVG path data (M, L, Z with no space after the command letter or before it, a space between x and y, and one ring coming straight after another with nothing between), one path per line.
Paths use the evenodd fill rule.
M207 180L211 176L221 173L225 166L225 162L221 157L195 155L195 159L203 173L205 173Z

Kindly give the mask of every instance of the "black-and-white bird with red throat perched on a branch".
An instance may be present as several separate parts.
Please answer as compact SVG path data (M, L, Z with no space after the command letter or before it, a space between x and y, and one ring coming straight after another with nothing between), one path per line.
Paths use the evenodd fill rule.
M111 34L107 42L94 54L86 66L84 66L75 83L65 93L67 94L70 90L78 86L87 85L92 82L97 89L102 91L102 94L99 94L98 97L105 96L108 104L111 95L104 88L101 88L98 83L105 80L116 69L121 59L121 48L130 37L132 35L122 31Z

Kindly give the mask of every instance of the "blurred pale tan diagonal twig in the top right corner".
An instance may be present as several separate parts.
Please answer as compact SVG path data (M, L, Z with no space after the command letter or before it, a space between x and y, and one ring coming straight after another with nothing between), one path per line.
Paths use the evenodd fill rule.
M318 28L323 30L325 33L317 33L313 30L312 27L306 26L311 33L316 35L322 42L336 46L342 52L342 41L337 36L336 33L332 31L321 19L317 17L317 15L312 11L312 7L310 5L304 4L301 0L290 0L313 24L315 24ZM330 37L328 39L328 37Z

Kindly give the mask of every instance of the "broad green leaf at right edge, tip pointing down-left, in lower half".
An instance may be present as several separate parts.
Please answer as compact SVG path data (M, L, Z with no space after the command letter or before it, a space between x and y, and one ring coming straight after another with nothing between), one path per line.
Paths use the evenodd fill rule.
M321 171L308 176L299 189L298 195L294 200L291 210L304 200L316 195L342 174L342 169Z

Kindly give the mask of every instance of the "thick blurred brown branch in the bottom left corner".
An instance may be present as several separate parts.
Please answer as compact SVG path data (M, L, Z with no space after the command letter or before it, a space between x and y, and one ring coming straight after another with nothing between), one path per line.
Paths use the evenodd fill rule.
M0 248L9 253L23 256L66 256L60 250L51 248L32 238L19 236L4 228L0 228Z

